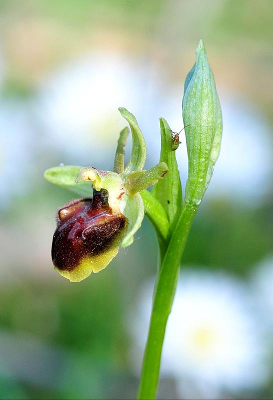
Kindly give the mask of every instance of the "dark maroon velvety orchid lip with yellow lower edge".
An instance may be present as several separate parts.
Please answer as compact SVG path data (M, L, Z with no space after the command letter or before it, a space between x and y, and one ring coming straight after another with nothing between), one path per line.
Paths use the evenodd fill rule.
M118 251L128 224L121 213L112 212L106 190L93 190L93 198L80 198L57 212L52 241L55 269L72 282L105 268Z

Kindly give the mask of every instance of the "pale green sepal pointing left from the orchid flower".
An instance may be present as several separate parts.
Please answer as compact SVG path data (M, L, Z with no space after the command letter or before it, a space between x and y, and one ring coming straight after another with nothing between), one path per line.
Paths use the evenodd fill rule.
M91 182L76 183L76 177L81 168L76 165L53 166L46 169L43 176L48 182L71 190L81 197L92 197Z

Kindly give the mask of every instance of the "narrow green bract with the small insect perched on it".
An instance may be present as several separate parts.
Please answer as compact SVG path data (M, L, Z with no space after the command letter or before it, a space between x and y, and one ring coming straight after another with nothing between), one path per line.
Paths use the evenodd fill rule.
M158 180L152 194L162 204L166 211L170 226L173 226L182 209L182 189L175 158L175 151L171 150L171 130L164 118L160 118L161 152L160 161L168 166L168 173L164 179Z

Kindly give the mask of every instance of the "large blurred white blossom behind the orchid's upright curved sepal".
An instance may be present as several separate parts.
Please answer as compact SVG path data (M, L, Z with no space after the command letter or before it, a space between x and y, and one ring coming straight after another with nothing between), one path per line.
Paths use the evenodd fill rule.
M73 162L76 155L81 164L100 161L97 149L103 148L103 165L111 165L124 127L118 107L132 109L139 118L150 97L156 97L149 86L147 66L121 54L92 52L64 64L47 77L36 101L46 144Z

